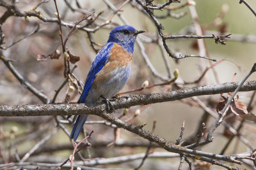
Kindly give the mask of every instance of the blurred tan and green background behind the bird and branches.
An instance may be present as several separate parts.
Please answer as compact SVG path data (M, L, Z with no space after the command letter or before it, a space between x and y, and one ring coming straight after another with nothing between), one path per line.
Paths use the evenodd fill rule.
M4 1L7 2L7 1ZM43 3L42 3L43 2ZM10 3L10 2L7 2ZM42 4L40 4L42 3ZM163 4L165 1L154 1L154 4ZM248 0L248 3L256 9L256 1ZM35 9L35 6L38 8ZM70 67L74 69L74 74L78 80L84 83L92 60L94 59L97 50L100 49L104 43L108 40L108 34L111 29L118 25L124 25L124 20L129 25L132 25L138 30L146 31L145 34L140 35L139 39L143 42L145 52L150 60L152 66L159 74L168 77L168 72L173 73L175 69L179 70L179 78L176 81L180 87L193 87L197 85L213 85L217 83L225 83L233 80L241 81L244 76L250 71L253 63L256 62L256 20L252 11L250 11L244 4L239 4L239 1L227 0L227 1L189 1L189 4L193 4L198 15L198 21L202 27L205 35L217 35L232 34L230 39L225 39L227 44L216 44L214 39L204 39L205 49L207 51L207 57L216 59L218 61L223 60L214 66L214 71L210 69L204 76L204 79L199 83L184 85L183 82L191 82L197 80L202 71L206 67L211 66L214 62L209 60L189 57L186 59L175 60L168 57L168 64L170 69L166 68L164 61L164 55L167 55L165 50L159 46L157 38L157 29L152 20L140 10L140 6L131 1L124 4L124 1L57 1L58 9L60 11L61 19L65 22L76 22L81 20L83 16L88 16L90 13L94 14L84 20L79 25L86 25L86 28L95 29L100 24L106 22L113 15L112 7L119 8L124 5L120 11L113 15L110 24L100 26L99 29L94 32L86 32L77 29L67 41L68 50L73 55L79 56L80 60L76 64L70 64ZM179 8L184 4L184 7ZM191 18L191 11L189 10L189 4L187 1L181 1L180 3L172 3L170 7L171 16L159 18L159 22L164 26L164 34L166 35L178 35L178 34L196 34L194 22ZM15 6L20 11L40 11L40 15L47 18L56 18L54 13L56 8L54 1L17 1ZM177 10L175 8L178 8ZM78 9L78 10L77 10ZM6 8L0 6L0 16L4 15ZM102 12L103 11L103 12ZM168 13L168 9L163 11L155 11L155 15L164 16ZM97 18L97 15L101 13ZM177 18L179 15L179 18ZM121 17L120 17L121 16ZM176 16L172 17L172 16ZM92 24L90 21L94 20ZM38 55L49 55L56 49L61 50L60 45L60 27L56 22L44 22L38 17L9 17L5 22L1 24L1 29L4 33L5 44L2 45L2 49L12 45L15 41L23 38L36 30L37 25L39 30L35 34L28 36L19 43L10 46L6 50L3 50L4 57L14 60L13 66L29 81L31 85L44 93L47 97L52 99L56 94L56 90L65 81L63 71L65 69L63 64L63 56L60 59L45 59L38 58ZM62 26L63 37L67 37L70 27ZM88 37L92 36L92 39ZM151 42L152 40L155 40ZM95 50L93 50L91 43ZM151 42L151 43L150 43ZM167 44L173 52L182 53L182 55L199 55L198 43L196 39L168 39ZM127 85L125 85L122 92L140 88L143 82L148 81L150 85L161 83L163 80L156 77L150 71L148 64L145 62L143 55L141 55L141 48L138 44L134 47L134 57L132 63L132 73L130 75ZM13 76L4 62L0 62L0 104L16 105L16 104L43 104L38 97L29 92L24 85L21 85L19 81ZM216 78L217 77L217 78ZM171 74L173 78L173 74ZM255 80L256 74L250 76L249 80ZM65 102L67 94L70 96L69 103L76 103L79 98L79 93L75 88L74 91L70 90L70 86L74 87L72 83L68 83L58 94L55 103ZM175 90L172 85L157 86L151 89L145 89L139 92L132 92L129 94L146 94L153 92L163 92L166 90ZM81 90L81 89L80 89ZM127 95L127 94L125 94ZM239 92L239 101L248 104L252 92ZM227 96L227 94L225 94ZM212 111L215 111L216 104L221 101L220 95L214 96L202 96L199 97ZM66 101L67 102L67 101ZM255 101L253 101L255 104ZM196 136L198 125L202 119L205 111L202 110L192 99L184 99L182 101L173 101L168 103L150 104L148 106L134 106L129 108L127 115L123 115L124 110L116 110L114 113L116 117L121 117L122 120L130 120L132 124L140 125L147 122L144 129L152 131L154 120L156 121L156 128L154 133L162 138L175 143L175 140L179 138L180 126L183 120L185 121L185 130L183 139L191 139ZM255 110L251 112L255 113ZM137 117L134 117L135 113L140 113ZM210 127L215 118L207 116L206 126ZM230 116L231 117L231 116ZM60 165L61 162L68 159L72 154L72 144L70 138L63 129L56 131L56 120L63 120L63 125L67 131L71 131L72 124L65 122L63 117L0 117L0 163L7 164L10 162L19 162L26 153L31 150L39 141L45 139L49 134L49 139L45 141L43 145L33 152L25 162L45 162ZM90 116L90 121L102 120L102 118ZM230 125L237 127L241 119L233 116L227 122L230 121ZM145 139L141 139L139 136L131 134L123 129L115 130L112 127L108 127L102 124L88 124L84 126L87 132L94 131L92 138L88 141L92 144L88 149L81 151L81 156L84 159L95 158L111 158L119 157L122 155L132 155L136 153L145 153L148 143ZM55 132L56 131L56 132ZM250 146L256 146L256 125L255 122L244 122L243 128L240 130L243 137L249 141ZM118 135L116 135L118 134ZM81 134L79 139L83 139ZM115 141L115 138L116 139ZM230 134L225 131L223 126L220 126L214 133L214 142L205 145L200 148L204 152L220 153L223 150L223 146L230 138ZM118 142L124 142L124 146L118 146ZM134 144L128 146L129 143ZM110 143L110 144L109 144ZM228 145L224 155L249 152L248 145L235 138ZM151 152L163 152L161 148L154 146L150 150ZM76 160L81 160L81 157L76 157ZM191 160L195 162L193 166L195 169L223 169L223 167L211 166L211 164L204 164L198 160ZM97 167L120 167L120 168L134 168L141 162L141 159L134 161L127 161L117 164L106 164ZM179 167L180 158L168 158L168 159L147 159L141 169L177 169ZM164 165L164 166L163 166ZM250 164L243 164L239 166L231 164L239 168L252 169ZM57 167L57 166L56 166ZM54 167L54 168L56 168ZM15 169L16 167L5 167L5 169ZM27 167L28 168L28 167ZM31 169L35 169L35 166L31 166ZM40 167L40 169L47 169L46 167ZM49 168L49 167L48 167ZM68 167L63 167L64 169ZM1 168L0 168L1 169ZM29 169L29 168L28 168ZM188 169L188 164L184 164L183 169Z

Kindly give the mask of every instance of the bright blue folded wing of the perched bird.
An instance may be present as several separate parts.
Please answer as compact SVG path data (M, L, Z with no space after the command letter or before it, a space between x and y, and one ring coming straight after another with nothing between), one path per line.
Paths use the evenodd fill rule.
M95 75L99 73L102 67L108 62L109 52L113 45L113 43L106 43L106 45L100 49L99 53L97 53L84 83L83 93L81 94L77 103L84 103L86 96L92 87L92 83L95 80Z

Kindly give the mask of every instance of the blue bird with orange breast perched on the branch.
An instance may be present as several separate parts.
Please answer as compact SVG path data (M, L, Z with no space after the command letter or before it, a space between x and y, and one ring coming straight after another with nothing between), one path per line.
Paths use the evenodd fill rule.
M131 73L134 43L137 35L143 32L145 31L138 31L131 25L118 26L109 32L107 43L102 46L92 62L77 103L92 107L104 99L108 110L109 104L114 110L109 98L122 90L127 82ZM77 117L70 139L77 140L87 118L88 115Z

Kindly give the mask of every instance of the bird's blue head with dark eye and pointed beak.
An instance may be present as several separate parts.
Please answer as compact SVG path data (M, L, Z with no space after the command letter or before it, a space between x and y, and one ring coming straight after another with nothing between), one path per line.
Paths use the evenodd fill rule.
M136 36L145 31L137 31L130 25L116 27L109 33L108 43L117 43L122 45L129 53L133 53Z

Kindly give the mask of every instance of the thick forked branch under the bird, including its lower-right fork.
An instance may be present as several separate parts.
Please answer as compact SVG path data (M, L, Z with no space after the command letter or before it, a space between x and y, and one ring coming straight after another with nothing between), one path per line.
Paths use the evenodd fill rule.
M177 90L173 92L160 92L155 94L144 94L136 96L119 97L113 101L115 109L127 108L138 104L160 103L164 101L174 101L184 99L186 97L201 96L207 94L220 94L224 92L233 92L238 83L224 83L221 85L209 85L204 87L193 87L190 89ZM256 90L256 81L248 81L240 89L241 91ZM164 138L160 138L156 134L152 134L140 127L113 117L110 113L105 112L105 104L100 103L98 106L88 108L84 104L48 104L48 105L27 105L27 106L0 106L1 116L28 116L28 115L79 115L79 114L92 114L108 120L117 127L126 129L129 132L138 134L148 141L157 143L169 152L188 153L198 155L200 157L207 157L217 160L225 160L227 162L234 162L241 164L231 156L217 155L214 153L201 152L198 150L191 150L186 147L177 146L168 143Z

